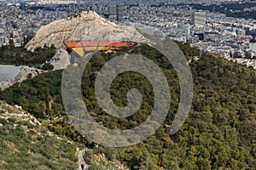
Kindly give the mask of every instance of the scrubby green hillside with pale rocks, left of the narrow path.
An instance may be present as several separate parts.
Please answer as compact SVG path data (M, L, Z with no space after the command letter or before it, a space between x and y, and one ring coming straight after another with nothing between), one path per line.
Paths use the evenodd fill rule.
M0 169L75 169L77 144L26 118L0 101Z

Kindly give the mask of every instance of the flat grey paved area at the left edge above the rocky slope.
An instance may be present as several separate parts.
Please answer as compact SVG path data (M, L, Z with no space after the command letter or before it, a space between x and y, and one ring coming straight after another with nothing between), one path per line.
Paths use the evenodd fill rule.
M14 65L0 65L0 82L15 78L20 72L19 66Z

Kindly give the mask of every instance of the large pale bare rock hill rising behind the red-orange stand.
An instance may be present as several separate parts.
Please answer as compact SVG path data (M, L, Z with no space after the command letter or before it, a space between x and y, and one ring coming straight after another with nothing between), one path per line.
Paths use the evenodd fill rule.
M149 42L135 28L117 26L103 19L95 12L83 12L76 16L55 20L42 26L35 37L26 44L27 50L44 47L44 44L55 48L64 48L66 41L104 41L104 42Z

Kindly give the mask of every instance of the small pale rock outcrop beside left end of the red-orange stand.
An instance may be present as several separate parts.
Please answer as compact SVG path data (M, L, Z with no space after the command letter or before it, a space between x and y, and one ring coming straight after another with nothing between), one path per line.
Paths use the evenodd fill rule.
M55 70L67 68L70 65L71 56L63 48L58 49L55 55L49 60L51 65L55 66Z

